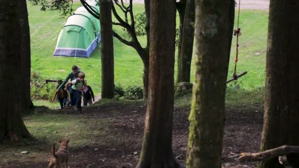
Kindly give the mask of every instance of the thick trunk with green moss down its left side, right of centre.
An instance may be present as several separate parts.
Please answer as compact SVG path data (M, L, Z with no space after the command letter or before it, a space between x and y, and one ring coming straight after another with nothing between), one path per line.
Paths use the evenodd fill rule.
M188 168L221 167L225 81L234 5L234 0L196 0L196 74L189 116Z

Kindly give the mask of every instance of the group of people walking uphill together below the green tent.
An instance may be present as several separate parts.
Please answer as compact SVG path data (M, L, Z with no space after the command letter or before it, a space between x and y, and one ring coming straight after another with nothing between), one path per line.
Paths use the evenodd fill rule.
M68 82L70 80L70 82ZM87 85L85 74L80 71L80 67L74 65L72 72L67 75L65 80L59 81L56 88L57 99L60 102L60 109L65 106L75 106L75 110L81 112L81 100L83 105L92 105L94 95L91 87ZM69 102L67 99L69 97Z

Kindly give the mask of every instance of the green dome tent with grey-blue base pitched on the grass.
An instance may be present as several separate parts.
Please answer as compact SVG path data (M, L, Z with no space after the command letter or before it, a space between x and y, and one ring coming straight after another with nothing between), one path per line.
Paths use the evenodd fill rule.
M99 11L99 6L88 1L90 6ZM60 31L54 56L89 57L101 41L99 20L93 17L84 6L76 9L67 18Z

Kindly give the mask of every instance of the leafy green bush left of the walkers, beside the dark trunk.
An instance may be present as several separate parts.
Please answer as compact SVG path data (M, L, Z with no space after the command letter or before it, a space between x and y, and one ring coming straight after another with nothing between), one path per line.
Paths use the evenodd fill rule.
M55 83L45 84L45 79L40 77L39 73L31 73L30 96L32 100L51 100L55 89Z

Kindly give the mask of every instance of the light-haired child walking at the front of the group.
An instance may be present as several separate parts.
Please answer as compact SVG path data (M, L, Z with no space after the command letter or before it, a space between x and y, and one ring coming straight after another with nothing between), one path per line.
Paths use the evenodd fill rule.
M73 93L73 102L75 103L75 110L82 112L81 111L81 99L82 99L82 90L83 90L83 85L86 83L85 82L85 74L83 72L80 72L78 74L78 78L66 83L66 87L69 84L72 84L71 90Z

